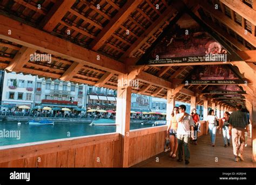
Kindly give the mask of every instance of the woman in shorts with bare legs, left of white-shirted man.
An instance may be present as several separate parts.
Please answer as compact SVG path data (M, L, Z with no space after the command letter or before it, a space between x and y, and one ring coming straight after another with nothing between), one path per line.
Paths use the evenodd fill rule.
M178 122L176 120L176 116L179 113L178 106L174 106L173 111L171 113L171 123L167 128L167 134L170 134L170 158L176 158L176 152L178 148L178 140L176 137Z

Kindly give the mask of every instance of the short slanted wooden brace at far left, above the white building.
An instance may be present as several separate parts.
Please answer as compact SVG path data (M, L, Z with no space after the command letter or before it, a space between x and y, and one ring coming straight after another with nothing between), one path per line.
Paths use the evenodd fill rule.
M15 55L14 59L12 59L12 61L6 67L6 69L11 72L19 72L25 63L30 60L30 55L34 54L35 52L36 49L23 46Z

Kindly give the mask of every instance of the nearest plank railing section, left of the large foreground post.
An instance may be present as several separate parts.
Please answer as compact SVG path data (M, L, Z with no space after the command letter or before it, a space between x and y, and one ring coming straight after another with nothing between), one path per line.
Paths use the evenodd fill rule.
M0 167L120 167L120 134L100 134L0 150Z

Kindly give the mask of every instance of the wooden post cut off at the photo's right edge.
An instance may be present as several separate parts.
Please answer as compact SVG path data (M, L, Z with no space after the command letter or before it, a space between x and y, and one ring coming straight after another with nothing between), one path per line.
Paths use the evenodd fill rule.
M252 102L252 160L256 162L256 99Z

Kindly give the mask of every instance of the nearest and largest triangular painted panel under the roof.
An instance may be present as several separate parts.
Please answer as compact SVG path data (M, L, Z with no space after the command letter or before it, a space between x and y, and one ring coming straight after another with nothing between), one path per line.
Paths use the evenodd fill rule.
M184 13L176 23L165 30L154 48L151 47L137 65L166 66L173 63L242 61L217 34L193 14L191 16Z

